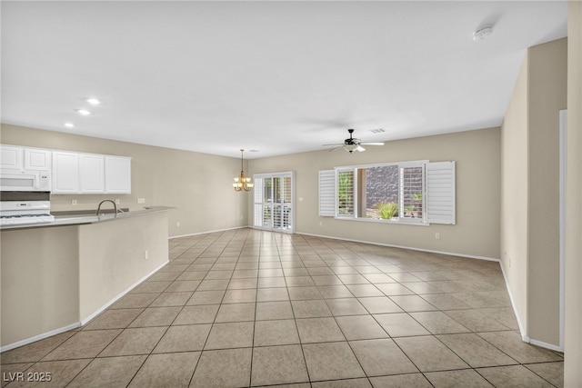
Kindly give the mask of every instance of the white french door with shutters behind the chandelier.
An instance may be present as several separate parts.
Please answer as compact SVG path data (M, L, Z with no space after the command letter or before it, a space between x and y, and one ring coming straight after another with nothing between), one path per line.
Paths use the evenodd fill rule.
M253 226L277 232L293 233L293 172L253 175Z

